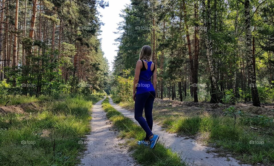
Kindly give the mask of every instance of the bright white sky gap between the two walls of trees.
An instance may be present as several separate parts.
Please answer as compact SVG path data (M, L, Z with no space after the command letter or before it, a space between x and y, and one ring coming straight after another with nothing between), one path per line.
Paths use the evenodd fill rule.
M106 0L107 1L107 0ZM126 4L130 4L130 0L108 0L109 7L105 7L105 9L98 8L98 11L102 15L99 17L100 20L105 24L101 26L101 35L98 38L102 38L102 50L104 52L104 56L108 59L108 63L110 65L110 71L112 70L112 62L114 60L114 56L117 55L118 45L113 45L114 40L117 39L120 35L114 34L113 32L117 32L118 23L123 21L119 14L121 10L124 9Z

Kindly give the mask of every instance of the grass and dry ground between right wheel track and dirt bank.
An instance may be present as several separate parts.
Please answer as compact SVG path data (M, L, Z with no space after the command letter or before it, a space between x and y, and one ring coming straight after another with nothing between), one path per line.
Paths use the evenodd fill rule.
M133 107L132 102L119 105L127 109ZM158 103L154 106L153 118L171 133L191 137L200 134L204 137L204 143L222 147L225 153L231 153L243 163L274 165L274 127L270 123L271 118L262 115L238 116L234 129L234 119L231 117L203 114L204 111L199 115L196 113L197 111L190 111L187 107L165 107ZM253 130L250 126L258 130ZM257 141L257 144L250 144L250 141Z

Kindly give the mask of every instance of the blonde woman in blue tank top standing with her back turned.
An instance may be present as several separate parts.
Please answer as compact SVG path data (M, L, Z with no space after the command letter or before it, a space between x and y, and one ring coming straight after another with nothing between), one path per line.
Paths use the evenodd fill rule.
M155 89L157 79L156 67L151 59L151 47L145 45L141 49L139 60L136 64L132 98L135 101L134 117L146 132L146 138L137 143L138 145L154 148L159 136L152 133L152 107L156 95ZM151 83L151 77L153 84ZM143 110L145 110L146 120L143 117Z

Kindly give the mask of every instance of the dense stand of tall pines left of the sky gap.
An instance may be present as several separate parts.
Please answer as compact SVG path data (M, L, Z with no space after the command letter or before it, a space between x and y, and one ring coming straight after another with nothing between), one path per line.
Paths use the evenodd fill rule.
M105 1L1 1L1 95L108 91L98 39Z

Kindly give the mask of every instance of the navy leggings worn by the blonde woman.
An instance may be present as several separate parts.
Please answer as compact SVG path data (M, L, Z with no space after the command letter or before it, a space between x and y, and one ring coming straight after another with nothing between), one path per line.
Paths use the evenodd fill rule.
M146 132L146 139L148 139L152 133L152 108L155 99L155 91L136 94L135 97L135 109L134 118ZM145 109L145 117L143 117L143 110Z

